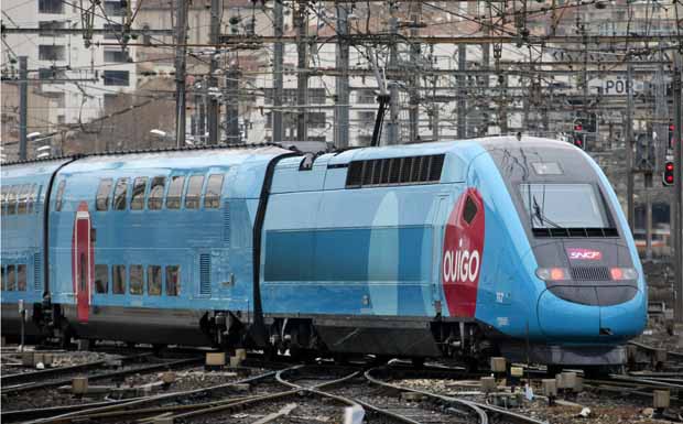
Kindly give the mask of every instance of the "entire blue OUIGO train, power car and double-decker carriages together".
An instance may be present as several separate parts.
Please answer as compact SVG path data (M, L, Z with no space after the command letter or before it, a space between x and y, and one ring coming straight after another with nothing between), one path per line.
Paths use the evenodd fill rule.
M647 287L563 142L277 145L2 166L2 330L293 355L618 365Z

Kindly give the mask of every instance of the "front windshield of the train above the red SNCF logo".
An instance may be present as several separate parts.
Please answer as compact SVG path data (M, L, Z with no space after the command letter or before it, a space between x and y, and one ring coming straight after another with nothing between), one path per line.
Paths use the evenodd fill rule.
M532 228L608 228L601 197L590 184L521 184Z

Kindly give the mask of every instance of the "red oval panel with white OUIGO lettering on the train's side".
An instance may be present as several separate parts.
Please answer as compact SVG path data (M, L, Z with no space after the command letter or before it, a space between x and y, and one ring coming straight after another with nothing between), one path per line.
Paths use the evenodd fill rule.
M444 233L441 275L451 316L475 316L484 229L481 195L468 188L451 211Z

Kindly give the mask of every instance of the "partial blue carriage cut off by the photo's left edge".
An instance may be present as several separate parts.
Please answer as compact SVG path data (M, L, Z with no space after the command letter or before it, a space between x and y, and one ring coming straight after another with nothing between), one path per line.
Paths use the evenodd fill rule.
M45 204L54 173L68 160L2 165L0 209L2 244L2 335L21 333L19 303L25 307L25 334L39 336L51 322L50 291L45 284Z

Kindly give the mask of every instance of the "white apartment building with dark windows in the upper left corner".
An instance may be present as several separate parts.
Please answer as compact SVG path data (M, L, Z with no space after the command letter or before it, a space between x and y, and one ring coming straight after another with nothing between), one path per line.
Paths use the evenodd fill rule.
M7 28L37 29L35 33L6 34L9 48L3 48L3 68L15 74L13 59L28 57L30 84L53 99L48 121L53 129L63 124L88 122L101 116L108 101L118 93L137 86L135 47L97 46L119 44L127 2L104 0L95 9L93 26L109 29L105 35L93 35L86 46L80 32L63 33L55 29L80 29L82 3L76 0L4 0ZM32 113L29 105L29 113Z

